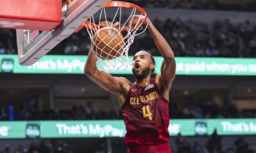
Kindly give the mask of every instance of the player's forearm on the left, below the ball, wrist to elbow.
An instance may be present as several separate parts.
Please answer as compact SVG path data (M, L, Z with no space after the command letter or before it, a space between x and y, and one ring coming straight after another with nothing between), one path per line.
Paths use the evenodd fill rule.
M93 73L95 73L95 71L97 71L97 58L95 57L95 54L93 53L92 50L90 50L88 57L87 57L87 61L86 64L84 65L84 73L86 75L93 75Z

